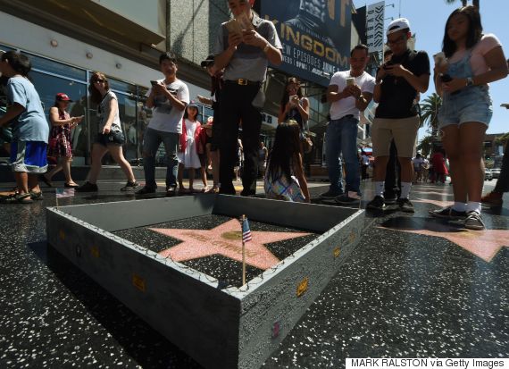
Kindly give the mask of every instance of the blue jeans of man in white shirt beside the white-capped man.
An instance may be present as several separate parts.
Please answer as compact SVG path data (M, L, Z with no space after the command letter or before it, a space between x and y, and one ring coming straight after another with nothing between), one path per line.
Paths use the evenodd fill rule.
M357 156L357 124L359 121L351 115L332 120L325 133L325 159L329 171L330 191L342 194L354 191L361 195L361 173ZM346 165L346 190L343 189L342 154Z

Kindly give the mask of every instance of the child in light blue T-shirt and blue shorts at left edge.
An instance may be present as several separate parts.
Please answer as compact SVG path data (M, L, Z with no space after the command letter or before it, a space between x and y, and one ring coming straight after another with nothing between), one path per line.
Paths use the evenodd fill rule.
M4 198L5 203L29 204L42 200L38 175L47 170L46 147L49 125L34 85L28 74L31 63L26 55L8 51L2 55L0 72L7 82L7 113L0 118L0 126L13 124L11 163L18 192Z

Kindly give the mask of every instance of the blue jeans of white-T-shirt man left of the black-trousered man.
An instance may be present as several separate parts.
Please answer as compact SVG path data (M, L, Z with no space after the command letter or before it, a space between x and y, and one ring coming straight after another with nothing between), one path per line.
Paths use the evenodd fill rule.
M175 169L179 163L177 160L179 133L147 128L143 136L143 171L145 172L145 186L150 189L157 189L157 183L155 183L155 155L161 142L163 142L166 151L166 188L177 187Z

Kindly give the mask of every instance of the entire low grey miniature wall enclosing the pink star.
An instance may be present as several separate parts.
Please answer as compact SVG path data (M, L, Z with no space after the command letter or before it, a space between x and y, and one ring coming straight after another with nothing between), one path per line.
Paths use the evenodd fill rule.
M110 231L204 214L322 233L240 289ZM358 242L363 211L196 196L47 209L48 242L156 331L210 368L255 368L271 355ZM304 283L305 282L305 283ZM274 323L280 333L271 336Z

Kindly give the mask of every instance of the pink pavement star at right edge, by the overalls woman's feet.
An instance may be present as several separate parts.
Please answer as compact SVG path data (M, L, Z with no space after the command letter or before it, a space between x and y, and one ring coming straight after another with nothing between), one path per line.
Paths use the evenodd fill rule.
M446 231L446 229L450 231ZM509 231L505 230L469 231L455 229L455 231L453 231L453 229L449 227L444 227L444 231L398 230L394 228L390 228L390 230L448 239L488 263L496 256L502 247L509 247Z

